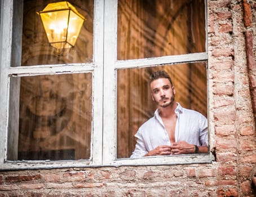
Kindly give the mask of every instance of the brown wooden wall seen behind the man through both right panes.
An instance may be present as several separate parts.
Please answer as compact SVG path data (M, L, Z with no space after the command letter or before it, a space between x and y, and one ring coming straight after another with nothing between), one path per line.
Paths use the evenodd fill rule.
M204 1L118 1L118 60L204 52L204 29ZM137 129L156 110L148 80L161 69L171 75L176 100L207 117L206 62L118 69L117 158L131 155Z

